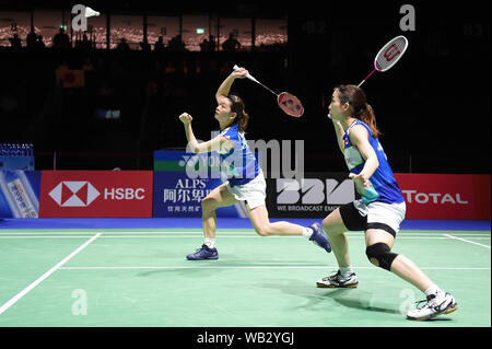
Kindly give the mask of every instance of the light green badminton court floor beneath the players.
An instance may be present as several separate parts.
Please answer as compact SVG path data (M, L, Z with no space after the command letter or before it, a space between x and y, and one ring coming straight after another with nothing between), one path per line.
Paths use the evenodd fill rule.
M199 230L1 230L1 327L490 327L490 231L401 231L394 252L458 310L407 321L424 295L365 257L348 233L359 288L318 289L336 259L305 237L219 230L215 261L188 261Z

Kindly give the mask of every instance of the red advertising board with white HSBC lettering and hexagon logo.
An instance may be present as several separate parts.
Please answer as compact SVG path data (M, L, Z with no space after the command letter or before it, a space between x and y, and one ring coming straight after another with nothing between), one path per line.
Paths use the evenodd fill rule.
M39 217L152 217L152 171L43 171Z

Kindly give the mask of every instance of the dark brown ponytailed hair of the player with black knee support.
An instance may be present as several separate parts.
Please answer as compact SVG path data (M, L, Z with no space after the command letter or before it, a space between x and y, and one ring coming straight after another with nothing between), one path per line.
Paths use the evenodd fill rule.
M376 115L373 107L366 102L365 93L356 85L340 85L336 88L342 103L349 103L353 117L360 119L371 128L374 138L380 136L377 128Z

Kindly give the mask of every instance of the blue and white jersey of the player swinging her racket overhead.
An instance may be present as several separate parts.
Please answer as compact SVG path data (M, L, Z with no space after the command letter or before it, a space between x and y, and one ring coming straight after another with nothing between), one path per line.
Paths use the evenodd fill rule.
M225 137L234 144L234 148L229 151L219 151L221 167L225 167L231 187L255 179L260 172L258 162L249 150L244 132L239 132L239 125L227 127L220 136Z

